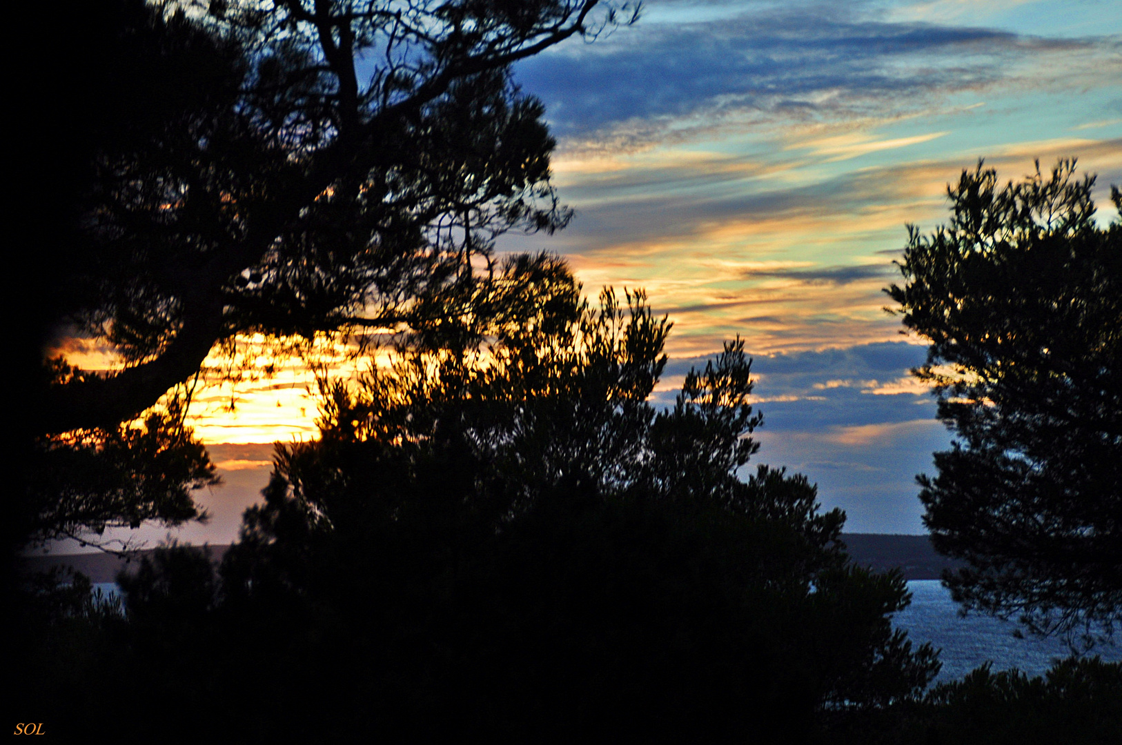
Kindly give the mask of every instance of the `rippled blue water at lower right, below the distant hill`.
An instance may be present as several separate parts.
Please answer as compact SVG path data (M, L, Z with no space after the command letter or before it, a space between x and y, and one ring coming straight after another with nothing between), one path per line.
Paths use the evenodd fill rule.
M912 603L896 614L893 623L908 632L913 644L930 642L936 649L942 649L939 655L942 670L936 682L962 678L986 661L993 663L995 671L1018 668L1029 675L1040 675L1051 666L1052 660L1070 654L1067 645L1057 638L1029 635L1017 638L1013 632L1019 626L1014 622L978 614L959 617L950 590L937 579L911 580L908 590L912 594ZM1094 653L1107 662L1122 661L1122 643L1098 645Z

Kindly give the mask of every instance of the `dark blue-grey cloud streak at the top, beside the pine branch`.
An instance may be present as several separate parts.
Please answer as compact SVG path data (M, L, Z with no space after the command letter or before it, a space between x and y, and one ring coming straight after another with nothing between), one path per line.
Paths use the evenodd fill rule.
M551 104L562 134L633 118L682 116L710 108L824 109L844 91L931 88L886 70L888 56L980 42L1008 45L1009 34L917 24L862 21L806 6L747 12L700 24L655 24L617 33L583 54L541 55L518 77Z

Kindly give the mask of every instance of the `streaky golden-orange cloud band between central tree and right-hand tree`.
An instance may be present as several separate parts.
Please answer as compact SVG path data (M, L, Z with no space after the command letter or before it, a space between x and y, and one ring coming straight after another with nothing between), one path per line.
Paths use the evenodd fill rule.
M789 155L773 149L779 159L766 168L752 150L620 156L615 173L588 180L572 171L562 193L577 220L549 241L508 238L500 248L560 251L589 292L644 287L675 324L674 356L719 349L736 334L757 352L849 347L899 338L882 289L900 280L892 259L904 226L926 232L946 221L947 183L981 155L1003 181L1030 172L1034 157L1047 167L1078 156L1080 168L1098 173L1104 204L1109 185L1122 182L1122 139L1000 142L837 171ZM679 168L686 175L675 177Z

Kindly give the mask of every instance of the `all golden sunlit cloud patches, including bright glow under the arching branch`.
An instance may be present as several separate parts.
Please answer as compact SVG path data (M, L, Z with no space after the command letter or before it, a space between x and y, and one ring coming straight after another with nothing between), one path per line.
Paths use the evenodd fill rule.
M928 138L932 139L932 138ZM858 146L861 137L821 138L820 155ZM893 141L893 140L866 140ZM1048 167L1056 157L1078 153L1080 166L1089 172L1122 171L1122 140L1056 138L995 147L986 163L1004 178L1022 176L1031 157ZM646 154L622 156L605 162L562 162L573 188L591 174L604 178L618 172L642 182L636 174L651 164L660 171L681 168L683 180L700 177L702 164L719 163L709 155L656 157ZM609 240L571 250L568 256L585 291L595 295L601 286L643 287L652 306L674 323L668 352L675 358L710 355L736 334L748 342L754 355L822 350L885 341L922 340L899 334L896 319L884 313L888 297L882 288L898 278L892 249L902 249L904 223L932 226L945 219L945 190L958 169L972 166L974 156L921 158L844 171L849 180L845 199L792 199L770 213L709 214L702 200L691 221L671 226L661 237ZM728 190L729 174L755 182L761 174L774 177L783 172L787 183L813 184L798 164L772 164L763 168L743 165L718 168L721 188ZM653 178L652 181L657 181ZM732 182L735 186L735 180ZM748 192L752 191L748 183ZM665 199L657 188L642 196L659 203ZM672 201L672 200L668 200ZM571 246L570 246L571 248ZM210 371L193 395L190 423L206 443L267 443L307 440L316 435L316 380L307 359L295 353L276 353L264 338L243 338L231 351L215 349L208 360ZM321 341L312 357L333 375L353 375L362 365L353 347ZM327 344L327 346L324 346ZM289 350L300 344L282 344ZM306 344L305 344L306 347ZM313 344L313 347L315 347ZM71 337L56 350L72 364L90 370L119 369L120 362L104 347ZM239 357L240 356L240 357ZM385 359L380 364L385 364ZM237 368L236 379L222 370ZM660 384L659 392L681 385L680 376ZM827 380L822 389L836 386L861 388L873 395L920 394L927 388L902 376L891 380ZM756 403L813 401L816 396L762 397ZM232 405L231 405L232 404ZM838 444L872 441L873 430L837 434ZM876 435L880 436L880 435ZM257 465L246 465L256 468ZM227 470L239 468L230 462Z

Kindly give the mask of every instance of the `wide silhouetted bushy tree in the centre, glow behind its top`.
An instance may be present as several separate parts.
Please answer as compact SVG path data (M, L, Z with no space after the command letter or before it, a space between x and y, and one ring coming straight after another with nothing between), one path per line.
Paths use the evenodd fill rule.
M278 448L212 594L183 549L123 580L130 654L164 661L136 710L237 701L209 725L263 739L789 742L927 684L934 651L891 626L900 576L847 563L806 478L738 478L742 342L660 411L669 324L641 293L588 303L548 256L480 293L488 313L325 387L321 439ZM200 666L220 691L181 690Z

